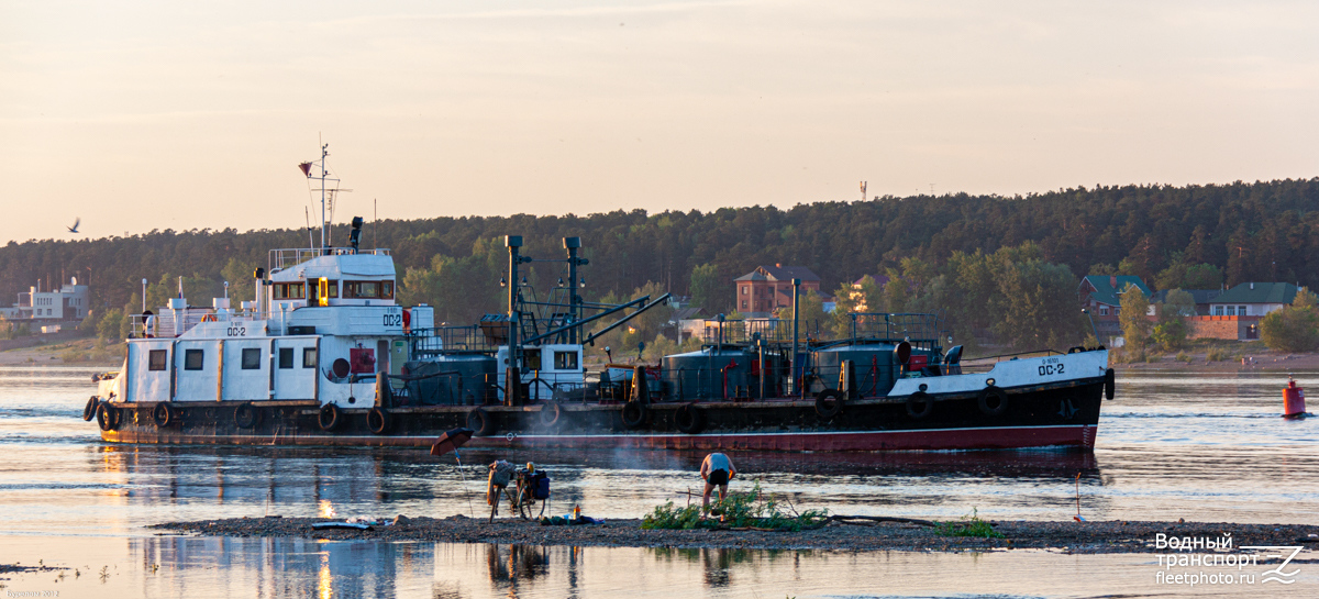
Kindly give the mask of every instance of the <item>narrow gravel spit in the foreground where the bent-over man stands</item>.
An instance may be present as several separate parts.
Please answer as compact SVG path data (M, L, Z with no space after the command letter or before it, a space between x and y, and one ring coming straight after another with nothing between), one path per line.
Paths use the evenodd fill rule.
M871 525L830 522L801 532L760 530L642 530L641 520L620 519L604 524L542 526L534 520L508 517L487 522L462 515L445 519L406 517L381 521L369 530L313 529L317 522L342 520L280 517L197 520L148 526L157 534L203 537L301 537L330 541L429 541L500 545L565 545L605 548L671 549L762 549L762 550L845 550L845 552L991 552L1054 550L1078 554L1177 553L1155 548L1155 537L1220 538L1231 534L1233 546L1304 545L1319 548L1319 526L1293 524L1159 522L1159 521L995 521L1006 538L944 537L935 529L902 522ZM394 524L397 522L397 524Z

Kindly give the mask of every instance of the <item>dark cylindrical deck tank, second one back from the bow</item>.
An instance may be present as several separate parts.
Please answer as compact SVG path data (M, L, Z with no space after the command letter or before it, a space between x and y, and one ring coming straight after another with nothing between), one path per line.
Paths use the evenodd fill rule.
M756 359L756 352L727 346L665 356L663 397L724 400L756 393L758 387L751 388L751 365Z

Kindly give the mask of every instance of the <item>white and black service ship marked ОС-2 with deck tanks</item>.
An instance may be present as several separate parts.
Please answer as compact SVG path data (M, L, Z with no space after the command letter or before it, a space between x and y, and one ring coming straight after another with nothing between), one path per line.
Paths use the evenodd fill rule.
M326 156L303 164L323 194ZM508 310L447 326L397 302L393 257L360 248L360 218L343 247L327 223L319 247L268 253L255 301L191 306L181 289L135 315L83 410L102 439L429 447L470 429L468 447L491 449L1088 451L1115 396L1103 346L963 360L938 314L851 314L828 340L720 315L699 350L592 372L586 346L670 297L583 301L579 237L533 260L506 236ZM537 298L518 277L533 261L567 284Z

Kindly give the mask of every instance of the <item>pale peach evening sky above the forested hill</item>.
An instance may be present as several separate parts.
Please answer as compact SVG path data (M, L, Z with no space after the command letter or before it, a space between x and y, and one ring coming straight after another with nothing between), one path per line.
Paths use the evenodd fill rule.
M0 0L0 243L1319 175L1319 4Z

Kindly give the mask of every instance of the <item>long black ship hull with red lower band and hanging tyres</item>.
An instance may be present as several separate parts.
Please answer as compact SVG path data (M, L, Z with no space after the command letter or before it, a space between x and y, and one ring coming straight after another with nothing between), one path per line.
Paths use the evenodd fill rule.
M820 416L816 402L754 400L648 404L644 418L624 422L625 404L563 402L528 406L396 406L388 424L368 418L369 408L346 409L323 430L314 402L251 402L260 414L237 425L240 402L173 402L173 421L157 425L157 404L119 404L117 426L102 438L127 443L309 445L429 447L441 433L468 426L472 412L487 418L485 434L468 447L637 449L760 451L909 451L1074 447L1089 450L1099 427L1104 379L1005 388L1006 406L987 410L977 394L934 394L930 409L907 397L845 401L838 414ZM917 406L921 406L917 404ZM681 410L699 410L699 430L683 431ZM922 413L925 412L925 413ZM992 413L996 412L996 413ZM557 413L557 416L554 416ZM634 416L634 413L633 413ZM689 421L690 422L690 421ZM372 424L379 433L372 431Z

